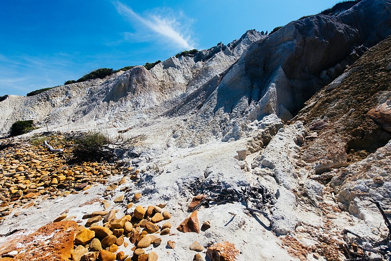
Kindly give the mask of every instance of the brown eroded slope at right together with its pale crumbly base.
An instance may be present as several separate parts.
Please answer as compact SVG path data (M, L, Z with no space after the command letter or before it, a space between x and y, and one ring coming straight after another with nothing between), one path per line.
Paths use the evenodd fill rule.
M388 37L322 88L295 118L313 137L301 148L310 177L327 184L346 210L364 218L368 199L390 204L390 57Z

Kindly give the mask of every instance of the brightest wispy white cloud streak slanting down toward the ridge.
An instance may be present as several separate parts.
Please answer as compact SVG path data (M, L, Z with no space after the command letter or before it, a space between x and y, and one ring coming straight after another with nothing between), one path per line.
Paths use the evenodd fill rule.
M186 35L184 26L178 22L173 16L169 15L169 12L165 14L165 17L161 15L152 14L145 15L144 17L134 12L126 4L115 1L113 2L117 12L120 15L126 16L131 21L137 22L143 25L144 28L149 29L152 34L148 33L124 33L125 39L137 39L137 41L146 41L147 39L163 38L170 43L173 43L176 48L193 49L195 42L190 35ZM140 36L143 36L140 38Z

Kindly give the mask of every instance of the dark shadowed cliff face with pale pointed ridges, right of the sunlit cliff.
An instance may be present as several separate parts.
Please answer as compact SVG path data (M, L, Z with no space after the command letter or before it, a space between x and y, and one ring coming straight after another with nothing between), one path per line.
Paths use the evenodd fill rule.
M237 139L246 123L271 113L289 120L319 89L390 35L390 19L389 1L362 1L335 17L290 22L252 44L236 64L199 89L197 99L174 108L174 114L192 110L194 144L211 133Z

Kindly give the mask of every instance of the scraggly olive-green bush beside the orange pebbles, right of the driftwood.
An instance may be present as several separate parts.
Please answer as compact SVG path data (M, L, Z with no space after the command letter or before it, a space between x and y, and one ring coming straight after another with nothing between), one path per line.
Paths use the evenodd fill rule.
M100 160L113 157L113 152L109 149L111 140L108 135L102 132L83 133L75 140L76 146L73 155L76 159Z

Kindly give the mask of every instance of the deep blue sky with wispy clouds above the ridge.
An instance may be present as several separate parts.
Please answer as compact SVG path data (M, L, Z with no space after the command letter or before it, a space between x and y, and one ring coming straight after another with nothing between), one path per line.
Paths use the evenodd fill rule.
M0 96L269 32L340 0L4 0Z

